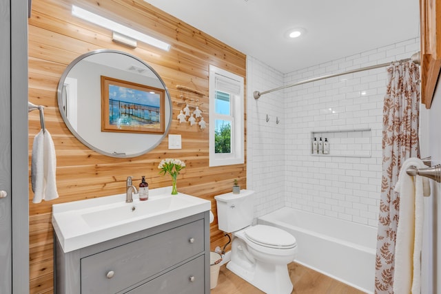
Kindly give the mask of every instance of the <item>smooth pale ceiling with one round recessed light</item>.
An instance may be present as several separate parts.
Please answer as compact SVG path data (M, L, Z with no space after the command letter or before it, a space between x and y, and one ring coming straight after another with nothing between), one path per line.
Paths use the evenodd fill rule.
M418 0L145 1L282 73L420 35Z

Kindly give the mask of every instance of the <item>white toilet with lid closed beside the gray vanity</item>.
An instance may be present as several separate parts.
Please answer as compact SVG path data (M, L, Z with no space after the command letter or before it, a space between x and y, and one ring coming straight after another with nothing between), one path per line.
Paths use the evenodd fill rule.
M287 264L296 258L296 238L276 227L252 226L253 198L251 190L214 196L219 229L233 235L227 269L267 294L291 293Z

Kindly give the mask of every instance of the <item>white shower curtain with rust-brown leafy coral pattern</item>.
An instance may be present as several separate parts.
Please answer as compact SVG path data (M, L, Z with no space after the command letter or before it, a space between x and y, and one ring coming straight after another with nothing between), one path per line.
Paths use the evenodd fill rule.
M395 241L400 196L393 191L404 160L420 157L418 116L420 112L419 66L409 62L387 67L388 84L383 108L383 162L378 218L375 293L393 293ZM401 293L396 293L401 294Z

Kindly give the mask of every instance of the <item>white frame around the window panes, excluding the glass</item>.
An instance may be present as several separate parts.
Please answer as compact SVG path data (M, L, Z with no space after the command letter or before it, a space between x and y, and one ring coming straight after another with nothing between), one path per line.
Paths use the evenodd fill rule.
M214 65L209 65L209 166L239 165L245 162L244 140L244 78L227 72ZM230 94L230 116L216 114L216 91ZM214 152L214 130L216 120L232 120L231 153Z

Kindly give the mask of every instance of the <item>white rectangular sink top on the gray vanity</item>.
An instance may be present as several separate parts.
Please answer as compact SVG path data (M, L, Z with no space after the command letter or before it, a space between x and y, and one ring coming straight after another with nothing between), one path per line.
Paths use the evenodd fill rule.
M125 194L52 205L52 226L64 252L104 242L209 211L211 202L183 193L171 195L172 188L151 189L149 199Z

